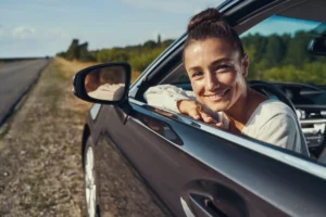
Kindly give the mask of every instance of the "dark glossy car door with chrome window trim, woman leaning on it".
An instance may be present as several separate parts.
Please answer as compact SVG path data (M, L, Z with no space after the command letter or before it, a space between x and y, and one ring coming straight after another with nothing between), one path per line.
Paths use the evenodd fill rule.
M279 1L266 2L273 3L268 13L262 14L262 10L267 10L266 4L244 1L246 4L234 4L229 16L240 16L241 7L252 13L260 11L256 16L279 10L280 4L274 4ZM281 5L290 7L289 2L293 3ZM235 9L238 11L231 13ZM151 107L141 100L138 91L163 79L158 72L175 65L174 52L178 52L180 44L175 43L133 86L131 112L110 107L110 122L104 130L111 145L166 208L163 215L325 216L324 166L289 151Z

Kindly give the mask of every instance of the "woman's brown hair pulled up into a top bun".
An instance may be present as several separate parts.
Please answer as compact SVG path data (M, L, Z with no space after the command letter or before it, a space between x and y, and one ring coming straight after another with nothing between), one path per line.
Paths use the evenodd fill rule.
M222 18L217 9L209 8L196 14L188 24L187 34L184 52L192 41L222 38L229 41L239 51L240 58L244 55L239 35Z

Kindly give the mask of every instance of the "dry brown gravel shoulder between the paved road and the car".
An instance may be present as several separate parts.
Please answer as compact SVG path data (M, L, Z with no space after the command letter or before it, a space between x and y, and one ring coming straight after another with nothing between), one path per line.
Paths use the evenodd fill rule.
M85 216L80 140L90 103L72 93L90 64L53 59L0 135L0 216Z

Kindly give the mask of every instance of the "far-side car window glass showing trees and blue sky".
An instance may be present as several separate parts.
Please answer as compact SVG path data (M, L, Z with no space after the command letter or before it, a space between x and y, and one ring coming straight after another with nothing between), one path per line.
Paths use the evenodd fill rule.
M321 22L275 15L242 34L249 79L324 85L325 58L308 51L323 27Z

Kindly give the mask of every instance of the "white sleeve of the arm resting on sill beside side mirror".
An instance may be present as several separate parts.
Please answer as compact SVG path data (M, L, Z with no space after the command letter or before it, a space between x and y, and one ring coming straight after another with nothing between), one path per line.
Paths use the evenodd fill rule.
M149 88L143 98L151 106L170 110L176 113L180 113L177 107L177 101L179 100L193 100L192 91L185 91L173 85L160 85Z

